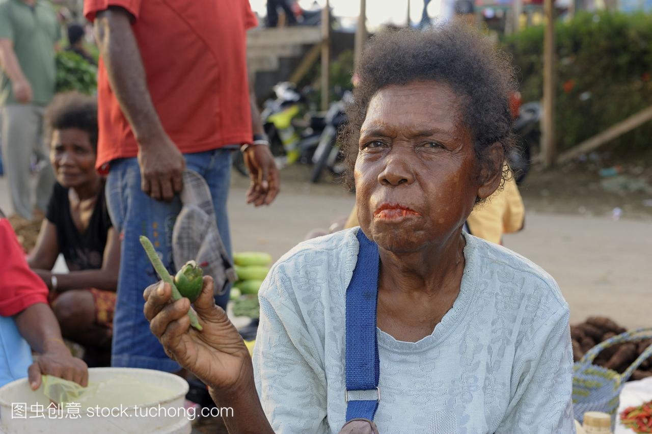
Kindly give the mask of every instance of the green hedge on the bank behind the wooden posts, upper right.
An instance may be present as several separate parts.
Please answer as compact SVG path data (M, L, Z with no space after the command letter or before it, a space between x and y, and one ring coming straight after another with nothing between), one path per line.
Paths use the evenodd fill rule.
M578 14L557 22L557 147L568 149L652 104L652 15ZM503 40L518 67L524 102L540 100L543 27ZM652 123L617 139L643 149L652 142Z

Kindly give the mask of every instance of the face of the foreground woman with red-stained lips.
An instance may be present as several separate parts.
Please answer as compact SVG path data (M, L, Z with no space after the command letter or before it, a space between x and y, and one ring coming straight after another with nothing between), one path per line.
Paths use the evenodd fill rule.
M461 107L435 81L384 87L370 101L355 188L360 225L381 248L408 253L445 242L486 194Z

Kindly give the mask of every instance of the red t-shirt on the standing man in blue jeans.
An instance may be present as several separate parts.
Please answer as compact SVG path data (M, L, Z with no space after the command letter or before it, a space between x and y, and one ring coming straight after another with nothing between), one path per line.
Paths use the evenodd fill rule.
M246 30L256 26L248 0L85 0L84 15L123 7L132 24L147 87L170 139L183 153L252 140ZM96 166L138 154L131 126L98 71L100 135Z

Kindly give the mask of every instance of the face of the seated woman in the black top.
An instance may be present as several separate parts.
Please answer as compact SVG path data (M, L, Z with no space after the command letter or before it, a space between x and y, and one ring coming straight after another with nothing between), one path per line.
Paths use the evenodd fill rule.
M95 171L97 156L91 137L79 128L54 130L50 146L50 162L59 184L66 188L77 187L98 177Z

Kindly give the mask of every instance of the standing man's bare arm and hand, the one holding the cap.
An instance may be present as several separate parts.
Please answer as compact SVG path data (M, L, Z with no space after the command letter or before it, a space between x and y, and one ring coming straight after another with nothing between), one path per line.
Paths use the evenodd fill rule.
M181 191L185 161L156 113L131 20L120 7L98 12L95 37L111 89L138 141L141 187L155 199L169 201Z

